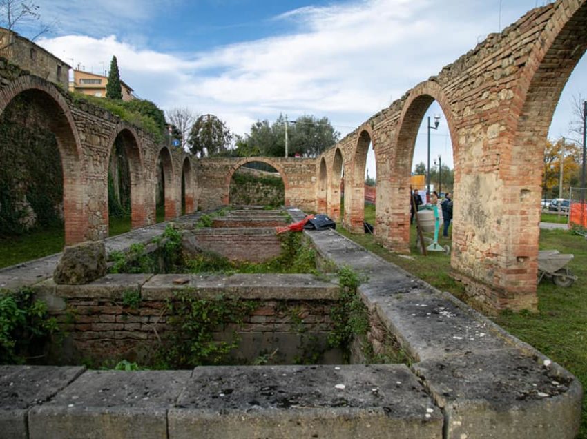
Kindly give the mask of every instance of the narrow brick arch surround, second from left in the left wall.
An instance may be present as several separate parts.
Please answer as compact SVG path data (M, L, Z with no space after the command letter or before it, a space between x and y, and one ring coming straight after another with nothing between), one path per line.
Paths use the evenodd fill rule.
M108 146L108 154L106 155L105 178L108 181L108 164L110 163L110 156L114 150L114 144L117 138L122 140L126 159L128 160L128 170L131 174L131 227L142 227L147 221L145 206L146 181L142 148L138 141L139 137L132 126L119 124L108 138L108 143L106 144ZM106 208L106 212L106 225L108 225L108 208Z

